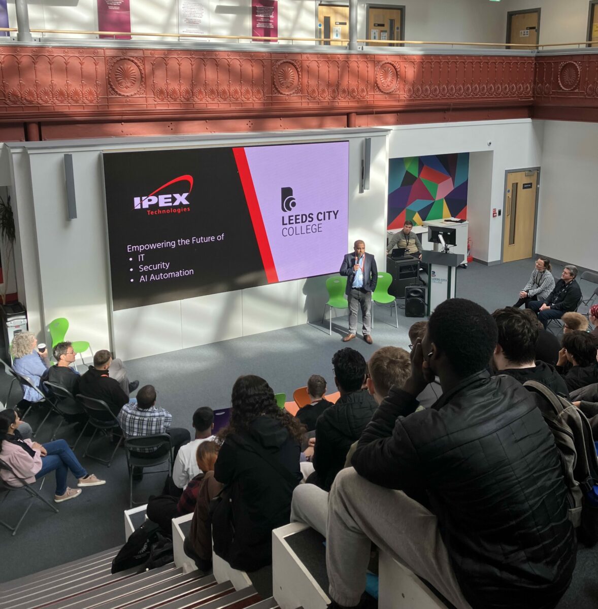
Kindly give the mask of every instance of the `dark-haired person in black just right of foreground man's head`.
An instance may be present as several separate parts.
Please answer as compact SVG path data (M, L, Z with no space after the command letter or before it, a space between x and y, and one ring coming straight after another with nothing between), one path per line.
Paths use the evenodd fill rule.
M538 381L569 399L567 385L554 366L534 361L538 342L535 320L512 306L496 309L492 317L498 326L498 343L492 358L497 373L512 376L521 384Z

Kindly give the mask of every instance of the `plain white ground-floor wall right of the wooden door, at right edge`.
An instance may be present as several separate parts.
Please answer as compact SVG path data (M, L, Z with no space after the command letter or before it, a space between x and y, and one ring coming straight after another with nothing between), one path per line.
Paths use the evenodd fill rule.
M536 252L598 270L598 124L546 121Z

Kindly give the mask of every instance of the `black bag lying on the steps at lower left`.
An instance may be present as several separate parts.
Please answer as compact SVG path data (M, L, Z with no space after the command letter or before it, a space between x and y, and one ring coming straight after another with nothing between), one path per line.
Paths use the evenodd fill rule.
M165 560L168 555L170 560ZM172 540L169 540L163 534L160 525L153 523L151 520L146 520L131 533L127 543L121 547L114 557L112 572L118 573L136 566L142 566L141 571L147 571L157 566L166 565L172 560L174 560Z

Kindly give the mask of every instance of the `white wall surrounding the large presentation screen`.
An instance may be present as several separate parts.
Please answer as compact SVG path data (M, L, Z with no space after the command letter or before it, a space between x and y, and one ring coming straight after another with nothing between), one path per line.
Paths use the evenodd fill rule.
M371 186L359 193L364 137L371 138ZM238 146L348 140L349 203L346 252L364 239L385 270L387 130L278 132L180 138L119 138L9 144L17 219L18 290L29 327L44 336L56 317L70 322L69 340L94 350L113 348L122 359L194 347L321 319L328 300L325 276L181 301L110 311L110 282L102 150ZM63 156L72 153L77 218L66 218ZM339 258L339 267L342 256ZM340 314L343 314L341 312ZM317 331L317 330L315 330ZM114 340L111 342L110 337ZM49 342L49 336L44 336Z

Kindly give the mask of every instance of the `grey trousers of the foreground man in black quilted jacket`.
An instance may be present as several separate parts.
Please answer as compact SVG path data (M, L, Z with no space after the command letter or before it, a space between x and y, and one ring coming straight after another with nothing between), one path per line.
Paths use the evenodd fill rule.
M457 609L471 609L452 570L436 516L403 491L372 484L352 467L341 470L328 498L326 533L329 592L339 605L359 604L373 542L431 583Z

